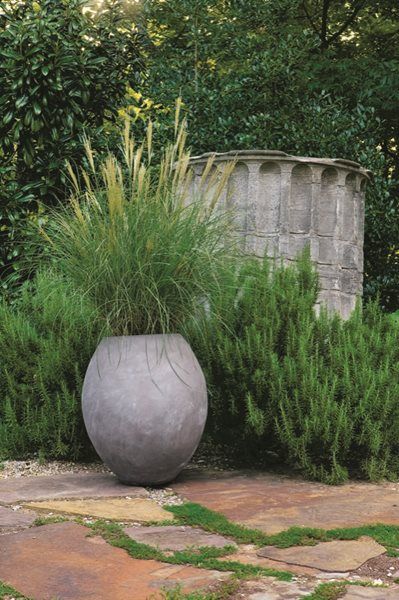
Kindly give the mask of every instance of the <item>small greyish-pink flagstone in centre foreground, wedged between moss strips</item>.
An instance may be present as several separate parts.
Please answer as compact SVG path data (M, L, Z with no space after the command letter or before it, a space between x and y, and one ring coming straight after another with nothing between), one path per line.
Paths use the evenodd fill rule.
M166 527L126 527L125 532L137 542L155 546L161 550L185 550L189 547L235 546L231 540L195 527L170 525Z

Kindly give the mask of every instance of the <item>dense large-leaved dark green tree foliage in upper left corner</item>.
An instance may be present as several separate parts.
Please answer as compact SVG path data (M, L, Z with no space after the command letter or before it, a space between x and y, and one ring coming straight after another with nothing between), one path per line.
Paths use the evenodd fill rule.
M140 79L140 36L123 3L112 1L101 13L85 5L0 2L3 274L18 265L20 225L37 214L38 202L65 197L65 161L81 160L83 133L106 144L106 123L115 120L127 85Z

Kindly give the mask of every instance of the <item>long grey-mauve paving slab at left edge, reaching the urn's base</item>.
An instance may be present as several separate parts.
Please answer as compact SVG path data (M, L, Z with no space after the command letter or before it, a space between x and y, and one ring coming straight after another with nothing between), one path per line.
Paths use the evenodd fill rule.
M61 498L144 498L142 487L126 486L110 473L65 473L39 477L10 477L0 481L0 504Z

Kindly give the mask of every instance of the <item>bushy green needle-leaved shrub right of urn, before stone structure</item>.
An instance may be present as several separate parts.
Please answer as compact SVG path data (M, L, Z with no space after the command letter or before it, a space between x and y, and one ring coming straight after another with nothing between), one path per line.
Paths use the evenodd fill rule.
M307 476L399 475L399 327L375 304L316 317L317 277L248 259L213 297L192 346L209 431L250 462L268 452Z

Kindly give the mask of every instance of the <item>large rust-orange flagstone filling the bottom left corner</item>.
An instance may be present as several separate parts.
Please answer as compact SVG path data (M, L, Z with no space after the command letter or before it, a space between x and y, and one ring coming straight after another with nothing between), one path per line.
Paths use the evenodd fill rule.
M159 600L163 586L203 588L228 574L131 558L76 523L3 536L0 580L33 600Z

